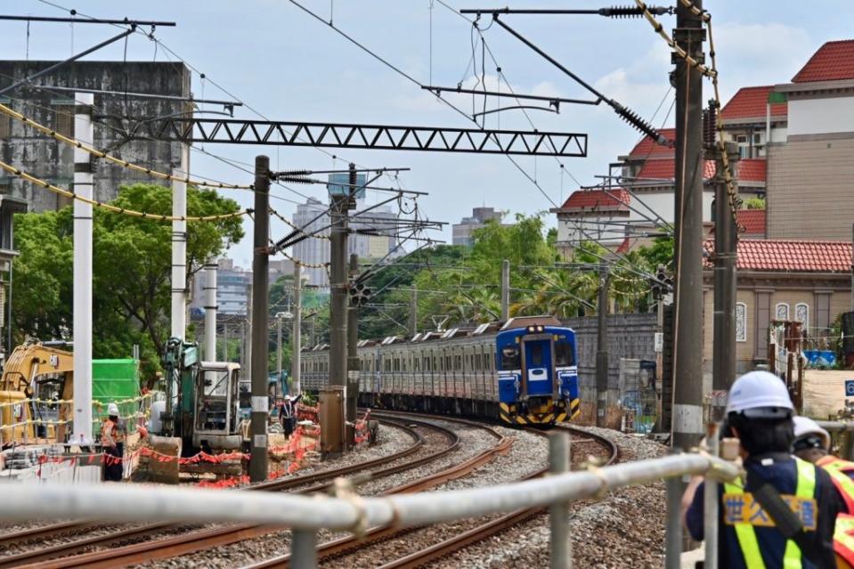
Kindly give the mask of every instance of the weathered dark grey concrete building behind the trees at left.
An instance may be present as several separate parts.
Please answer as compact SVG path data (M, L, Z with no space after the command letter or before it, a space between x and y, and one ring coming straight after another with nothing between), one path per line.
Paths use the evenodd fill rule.
M0 86L11 85L53 63L54 61L0 61ZM183 63L175 62L76 61L45 77L37 78L34 83L102 91L183 97L191 95L190 70ZM0 96L0 103L70 137L74 136L74 102L72 92L37 89L29 85L6 93L6 96ZM190 109L187 102L134 99L116 94L96 93L94 146L161 172L171 172L174 167L187 169L189 159L182 159L180 143L126 141L123 133L104 125L99 121L99 117L164 117ZM28 174L62 188L72 189L74 149L5 115L0 117L0 157L4 162L20 167ZM185 163L182 166L183 161ZM108 164L103 160L95 160L94 166L94 197L101 201L114 199L121 184L163 183L162 180L149 175ZM5 173L0 173L0 193L26 199L33 211L57 209L70 203L69 199Z

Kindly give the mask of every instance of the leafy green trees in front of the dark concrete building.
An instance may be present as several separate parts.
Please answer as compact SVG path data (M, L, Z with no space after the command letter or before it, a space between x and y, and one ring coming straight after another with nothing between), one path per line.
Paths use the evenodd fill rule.
M112 202L153 214L171 215L172 191L151 184L119 188ZM222 215L238 204L215 191L187 190L188 215ZM243 237L233 217L187 224L188 279L207 259ZM73 328L72 207L15 217L15 341L25 337L71 339ZM143 374L159 369L169 335L172 226L149 219L94 210L93 355L126 357L140 345Z

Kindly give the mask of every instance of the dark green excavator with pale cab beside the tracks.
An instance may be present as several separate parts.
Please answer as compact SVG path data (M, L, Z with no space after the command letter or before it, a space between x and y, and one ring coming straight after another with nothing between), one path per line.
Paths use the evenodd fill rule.
M240 364L202 362L199 345L173 337L163 355L166 400L152 415L152 434L181 439L184 456L239 450Z

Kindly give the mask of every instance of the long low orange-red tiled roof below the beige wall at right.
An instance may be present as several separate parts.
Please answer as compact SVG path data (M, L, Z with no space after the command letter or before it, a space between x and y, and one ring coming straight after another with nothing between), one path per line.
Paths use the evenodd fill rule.
M704 248L714 250L714 240ZM706 266L711 263L707 259ZM850 272L850 241L738 240L739 271Z

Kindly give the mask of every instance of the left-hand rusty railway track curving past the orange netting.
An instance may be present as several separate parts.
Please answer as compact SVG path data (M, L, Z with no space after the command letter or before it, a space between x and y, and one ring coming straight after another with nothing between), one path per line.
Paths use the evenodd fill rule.
M360 463L358 465L354 465L352 467L337 468L334 470L321 471L306 476L289 478L282 481L271 481L268 483L256 484L251 487L251 490L262 490L271 492L283 491L286 489L292 490L297 486L302 486L300 490L298 490L298 492L321 492L327 490L331 483L323 482L318 484L320 480L330 481L336 477L346 476L347 474L353 474L354 472L363 471L366 469L370 471L371 479L392 476L394 474L404 472L411 468L422 466L435 459L439 459L444 455L456 451L460 446L460 438L458 435L456 435L450 429L437 426L434 423L421 421L419 419L413 418L411 415L404 414L394 414L394 417L392 417L391 414L386 415L385 413L375 413L374 416L381 418L386 423L394 424L395 427L409 428L412 433L418 436L416 443L413 443L411 447L405 449L400 453L395 453L390 457L370 460L364 463ZM403 423L399 422L401 418L405 418L405 422L408 425L414 424L418 425L419 427L426 427L441 432L447 439L448 444L445 445L442 449L430 452L427 455L420 457L419 459L413 459L406 461L403 464L384 467L377 470L371 470L370 468L372 467L377 467L381 464L387 464L388 462L391 462L393 460L402 459L404 456L409 456L420 446L420 435L416 431L414 431L414 429L408 427L408 425L404 425ZM472 423L470 421L461 421L460 419L441 419L447 422L465 422L469 425L477 425L478 427L482 427L484 429L488 428L480 426L476 423ZM512 444L512 439L503 437L492 429L490 429L490 431L492 432L492 435L495 438L495 443L489 450L483 451L471 459L465 460L458 465L454 465L454 467L446 468L440 472L435 473L434 475L425 476L417 481L399 485L389 492L419 492L420 490L424 490L438 484L443 484L456 477L465 476L466 474L468 474L468 472L471 472L477 467L482 466L497 454L507 452L510 445ZM306 484L308 484L307 487L305 487ZM83 522L81 522L81 524L83 524ZM57 524L56 529L61 529L62 531L64 531L68 528L59 528L59 524ZM164 559L169 557L188 555L204 549L223 547L225 545L229 545L237 541L249 540L263 536L267 533L279 532L286 529L288 528L275 527L270 525L232 524L199 530L198 528L194 528L193 526L187 526L183 524L147 524L142 527L128 529L125 532L113 533L109 536L84 538L82 540L73 541L68 544L60 544L49 548L27 551L16 556L0 557L0 568L12 566L26 566L30 568L123 567L126 565L148 562L155 559ZM143 541L142 543L134 543L105 551L99 550L91 553L73 555L75 553L79 553L80 551L86 548L94 546L102 547L104 545L109 545L110 543L115 543L116 541L123 541L127 540L128 538L142 538L160 532L181 533L164 539Z

